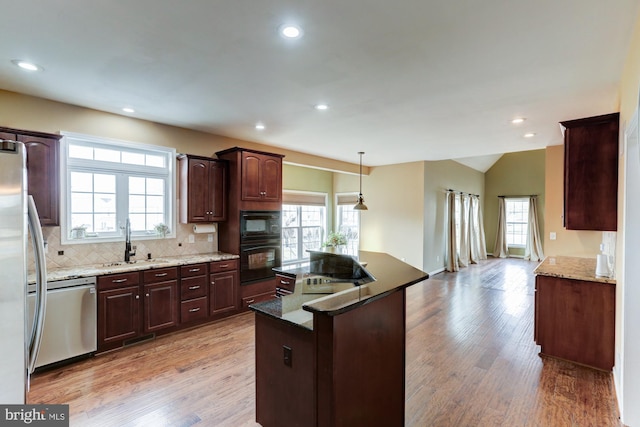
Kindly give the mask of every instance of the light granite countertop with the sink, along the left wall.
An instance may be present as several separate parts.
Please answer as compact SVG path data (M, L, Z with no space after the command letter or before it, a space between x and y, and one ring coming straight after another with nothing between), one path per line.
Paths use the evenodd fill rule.
M48 269L47 282L75 279L78 277L103 276L105 274L150 270L152 268L176 267L187 264L198 264L201 262L224 261L237 258L240 257L238 255L227 254L224 252L214 252L211 254L163 257L153 258L150 260L135 260L132 263L119 261L105 264L79 265L77 267ZM34 272L29 272L28 281L29 283L35 283Z

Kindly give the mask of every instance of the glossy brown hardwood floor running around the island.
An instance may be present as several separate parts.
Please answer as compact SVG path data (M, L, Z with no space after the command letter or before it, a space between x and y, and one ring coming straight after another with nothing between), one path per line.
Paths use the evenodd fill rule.
M407 426L621 426L613 377L533 342L535 263L489 259L407 292ZM256 427L253 313L37 374L71 426ZM357 427L357 426L356 426Z

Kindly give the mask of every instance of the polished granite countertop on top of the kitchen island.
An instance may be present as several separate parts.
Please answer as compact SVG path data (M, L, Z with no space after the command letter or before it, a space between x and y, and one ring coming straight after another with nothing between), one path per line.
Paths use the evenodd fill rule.
M315 314L336 316L429 278L424 271L385 253L360 251L358 260L361 265L366 264L366 271L373 276L373 281L356 286L347 280L336 281L310 274L304 265L295 269L276 268L276 272L296 274L294 292L252 304L249 308L312 330ZM318 282L314 283L314 279Z

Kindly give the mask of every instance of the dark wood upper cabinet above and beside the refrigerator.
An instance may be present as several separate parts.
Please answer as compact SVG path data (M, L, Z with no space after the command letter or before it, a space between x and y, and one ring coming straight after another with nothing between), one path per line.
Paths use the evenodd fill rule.
M60 135L0 127L0 139L23 142L27 151L28 194L33 196L43 226L59 225Z

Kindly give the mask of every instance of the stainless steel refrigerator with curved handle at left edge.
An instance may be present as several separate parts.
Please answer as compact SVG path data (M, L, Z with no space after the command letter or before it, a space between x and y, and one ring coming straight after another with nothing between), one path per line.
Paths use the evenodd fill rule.
M46 309L44 239L35 203L27 196L25 162L22 143L0 140L0 404L26 403ZM29 231L37 277L33 319L27 308Z

